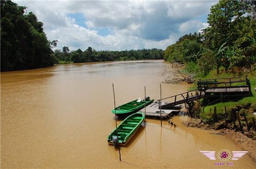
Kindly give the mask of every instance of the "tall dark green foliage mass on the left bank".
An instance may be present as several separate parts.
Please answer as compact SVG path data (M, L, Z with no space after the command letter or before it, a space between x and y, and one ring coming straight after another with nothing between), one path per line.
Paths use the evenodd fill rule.
M54 64L42 22L26 7L1 1L1 71L34 69Z

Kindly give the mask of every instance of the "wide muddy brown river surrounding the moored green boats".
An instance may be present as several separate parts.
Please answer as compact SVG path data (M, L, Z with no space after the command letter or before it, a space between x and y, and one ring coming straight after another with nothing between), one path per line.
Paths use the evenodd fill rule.
M214 168L200 151L243 151L226 136L182 125L146 119L126 147L109 146L115 128L116 104L146 95L160 98L163 61L127 61L57 65L50 68L1 72L2 168ZM162 83L162 97L186 92L187 86ZM118 124L121 121L118 121ZM253 168L245 154L221 167Z

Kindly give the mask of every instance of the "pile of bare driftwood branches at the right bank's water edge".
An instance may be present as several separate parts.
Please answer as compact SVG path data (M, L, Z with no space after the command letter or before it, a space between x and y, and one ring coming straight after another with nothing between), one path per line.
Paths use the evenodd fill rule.
M167 70L167 68L165 68L162 71L162 74L171 74L169 76L167 76L167 78L162 81L162 83L180 83L182 81L185 81L187 83L193 83L195 81L195 79L193 77L195 77L196 75L188 75L186 73L181 72L181 70L179 68L174 68L172 70Z

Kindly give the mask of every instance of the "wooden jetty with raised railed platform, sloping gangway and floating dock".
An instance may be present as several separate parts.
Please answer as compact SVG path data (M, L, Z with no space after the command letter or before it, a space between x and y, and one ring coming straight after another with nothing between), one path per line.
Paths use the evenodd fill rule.
M247 76L199 80L197 85L197 90L163 98L162 100L172 99L172 102L162 102L161 108L164 111L162 111L162 115L167 116L171 112L174 113L173 107L184 103L185 107L188 107L189 115L193 117L193 106L198 99L205 98L208 104L212 104L220 100L228 101L230 98L240 99L241 97L251 95L250 80ZM157 103L150 106L153 106L155 109L158 106L159 109L159 100ZM151 109L150 106L147 109ZM148 110L148 116L151 116L151 112L153 113L152 116L160 116L156 115L155 110Z

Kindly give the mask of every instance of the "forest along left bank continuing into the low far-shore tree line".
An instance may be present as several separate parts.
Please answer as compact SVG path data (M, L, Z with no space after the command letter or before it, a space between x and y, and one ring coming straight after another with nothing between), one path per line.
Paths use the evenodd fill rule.
M63 63L163 59L162 49L96 51L92 47L55 50L57 40L47 39L43 23L26 7L1 1L1 71L35 69Z

